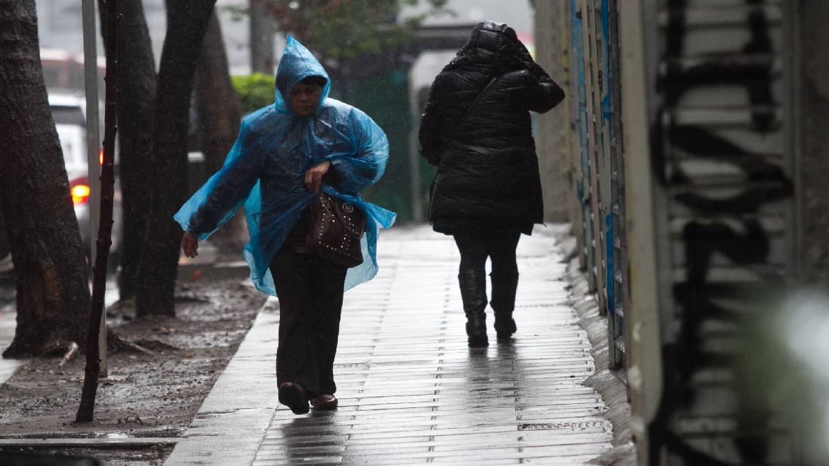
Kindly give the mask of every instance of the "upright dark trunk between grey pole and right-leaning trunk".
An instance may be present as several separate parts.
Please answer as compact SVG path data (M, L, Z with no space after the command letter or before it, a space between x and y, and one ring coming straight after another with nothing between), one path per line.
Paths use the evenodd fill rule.
M121 16L118 50L121 56L128 57L118 66L119 158L124 219L118 280L120 299L135 296L135 275L147 231L148 199L154 183L146 168L153 144L156 74L153 46L142 3L141 0L118 3Z

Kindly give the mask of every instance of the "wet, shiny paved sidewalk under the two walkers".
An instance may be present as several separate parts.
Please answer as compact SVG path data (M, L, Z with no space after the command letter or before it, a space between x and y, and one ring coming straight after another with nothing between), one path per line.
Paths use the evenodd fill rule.
M340 408L278 406L278 304L266 303L167 464L584 464L610 449L590 345L566 305L556 228L518 247L518 333L466 345L458 251L395 227L380 274L347 292L334 367Z

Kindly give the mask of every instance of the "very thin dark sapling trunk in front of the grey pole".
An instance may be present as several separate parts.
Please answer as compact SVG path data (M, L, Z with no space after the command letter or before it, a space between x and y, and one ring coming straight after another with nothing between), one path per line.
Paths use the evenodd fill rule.
M101 166L101 202L98 240L95 250L95 267L92 269L92 305L90 323L86 330L86 366L84 387L81 391L80 405L75 416L76 422L91 422L95 414L95 393L98 391L100 353L98 337L101 318L104 316L104 293L106 292L106 272L109 260L109 248L112 246L112 210L115 191L115 114L118 102L118 41L119 29L118 0L101 2L102 13L105 12L106 44L106 106L104 111L104 160Z

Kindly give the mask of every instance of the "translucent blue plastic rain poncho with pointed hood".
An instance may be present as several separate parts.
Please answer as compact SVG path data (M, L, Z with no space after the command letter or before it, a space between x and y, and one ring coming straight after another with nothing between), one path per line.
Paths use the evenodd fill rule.
M300 117L286 100L288 92L308 76L327 80L315 114ZM379 229L389 228L395 213L364 201L359 193L377 182L389 158L383 130L361 110L327 98L331 80L322 65L298 41L288 44L276 73L275 102L245 117L225 164L174 218L185 231L205 240L245 205L250 242L245 260L250 279L260 291L276 294L270 261L314 198L305 172L330 160L334 181L322 190L350 201L366 212L363 263L349 269L345 289L377 273Z

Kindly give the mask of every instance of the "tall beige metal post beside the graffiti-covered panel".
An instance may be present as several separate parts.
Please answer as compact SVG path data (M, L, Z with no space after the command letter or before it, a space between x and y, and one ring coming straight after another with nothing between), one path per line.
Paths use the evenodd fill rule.
M662 398L662 298L656 236L649 107L645 11L640 0L618 2L621 118L625 180L625 221L630 280L624 295L625 318L632 328L627 342L631 429L639 462L648 464L647 426Z

